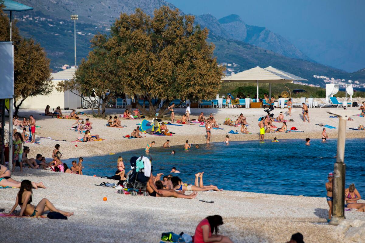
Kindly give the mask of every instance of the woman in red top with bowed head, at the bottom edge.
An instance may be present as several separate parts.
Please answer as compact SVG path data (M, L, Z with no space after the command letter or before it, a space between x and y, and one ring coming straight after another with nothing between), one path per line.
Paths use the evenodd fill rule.
M218 226L223 224L223 219L219 215L208 216L201 220L195 230L194 243L216 242L232 243L227 236L218 235ZM215 235L212 235L215 233Z

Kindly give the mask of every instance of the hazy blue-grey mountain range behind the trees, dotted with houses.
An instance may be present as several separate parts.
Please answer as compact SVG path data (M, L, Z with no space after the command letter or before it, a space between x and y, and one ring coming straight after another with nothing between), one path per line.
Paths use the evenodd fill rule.
M73 65L73 21L78 14L77 62L85 58L93 35L107 33L120 12L133 13L141 8L149 15L162 5L176 8L164 0L18 0L34 7L33 11L16 13L17 26L22 35L37 40L51 59L51 68L60 70L63 64ZM215 44L218 62L236 63L234 68L243 71L255 66L273 66L303 78L309 83L323 86L324 82L313 75L353 79L365 82L365 71L348 73L314 62L282 36L265 27L250 26L238 15L216 19L210 14L195 16L195 21L210 30L209 42ZM355 79L356 78L356 79Z

